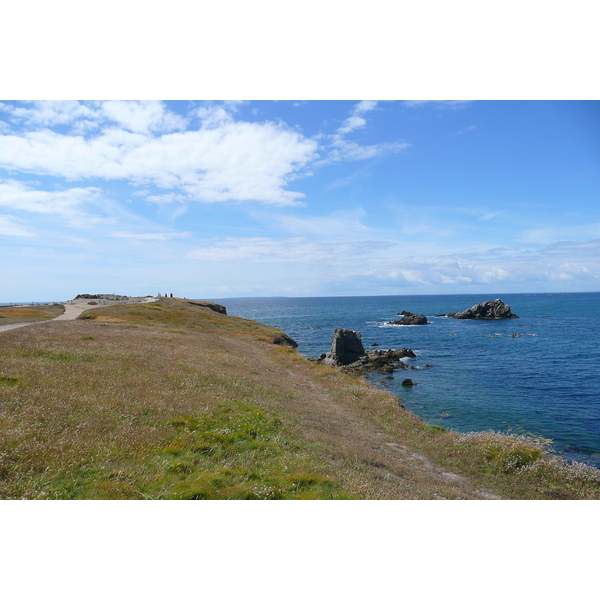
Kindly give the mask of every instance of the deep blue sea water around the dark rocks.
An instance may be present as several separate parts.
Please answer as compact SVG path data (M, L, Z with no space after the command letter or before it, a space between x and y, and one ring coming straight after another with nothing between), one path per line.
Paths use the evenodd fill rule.
M505 321L435 316L496 297L215 301L228 314L279 327L310 357L330 350L337 327L360 331L366 349L373 343L411 348L417 358L408 364L415 370L396 371L393 380L369 376L408 410L460 432L541 435L566 458L600 467L600 293L505 294L501 299L520 317ZM387 325L403 310L426 315L430 325ZM509 337L514 334L521 335ZM417 385L402 387L406 377Z

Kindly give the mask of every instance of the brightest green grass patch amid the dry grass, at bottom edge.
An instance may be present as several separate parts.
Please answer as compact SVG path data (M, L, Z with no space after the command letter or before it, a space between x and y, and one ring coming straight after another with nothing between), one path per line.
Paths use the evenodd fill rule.
M166 497L194 500L348 498L262 407L228 402L171 419L175 435L153 458ZM158 474L157 473L157 474ZM150 490L148 490L150 491Z

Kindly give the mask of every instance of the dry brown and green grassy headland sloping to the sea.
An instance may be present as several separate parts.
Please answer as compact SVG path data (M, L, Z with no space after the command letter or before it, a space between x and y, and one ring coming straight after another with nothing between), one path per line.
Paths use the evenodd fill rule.
M545 440L461 435L185 300L0 333L0 497L600 498Z

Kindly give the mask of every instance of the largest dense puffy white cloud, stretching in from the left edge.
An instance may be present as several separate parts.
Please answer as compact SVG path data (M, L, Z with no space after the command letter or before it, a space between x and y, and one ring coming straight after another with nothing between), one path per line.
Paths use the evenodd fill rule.
M43 130L0 136L0 166L175 187L203 202L291 206L304 194L284 188L316 150L316 142L273 123L231 122L161 137L110 128L86 139Z

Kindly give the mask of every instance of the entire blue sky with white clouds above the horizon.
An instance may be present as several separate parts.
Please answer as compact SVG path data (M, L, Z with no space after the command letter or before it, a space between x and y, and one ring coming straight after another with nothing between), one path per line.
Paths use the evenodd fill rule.
M597 101L0 103L0 302L600 289Z

